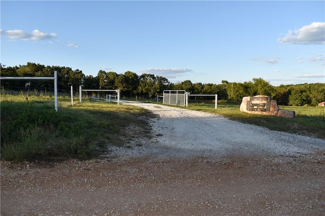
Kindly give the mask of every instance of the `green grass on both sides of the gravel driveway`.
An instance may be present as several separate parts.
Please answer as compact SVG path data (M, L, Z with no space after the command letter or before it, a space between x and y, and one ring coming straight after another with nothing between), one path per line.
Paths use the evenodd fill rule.
M58 103L55 112L53 97L2 94L1 159L88 159L106 151L107 145L127 147L129 125L137 128L139 136L150 134L146 118L152 113L142 108L89 99L83 99L82 104L75 100L71 106L69 97L59 97ZM276 131L325 139L324 107L281 108L296 111L296 117L243 113L239 103L219 103L217 109L207 103L190 103L187 107Z

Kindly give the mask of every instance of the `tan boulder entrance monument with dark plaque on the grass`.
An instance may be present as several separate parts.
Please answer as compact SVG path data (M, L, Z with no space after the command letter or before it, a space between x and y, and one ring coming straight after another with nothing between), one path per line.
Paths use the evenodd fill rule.
M294 118L296 116L295 111L279 109L277 102L265 95L243 97L242 103L240 104L240 111L287 118Z

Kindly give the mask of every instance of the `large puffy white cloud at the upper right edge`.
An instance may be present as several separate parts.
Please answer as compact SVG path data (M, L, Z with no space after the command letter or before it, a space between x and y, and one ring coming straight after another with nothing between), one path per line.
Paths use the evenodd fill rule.
M325 22L313 22L298 30L289 30L278 41L283 44L325 44Z

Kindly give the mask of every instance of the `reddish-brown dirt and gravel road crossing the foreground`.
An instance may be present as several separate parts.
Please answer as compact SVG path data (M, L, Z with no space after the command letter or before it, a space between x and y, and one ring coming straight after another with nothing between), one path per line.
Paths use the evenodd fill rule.
M2 162L1 215L323 215L325 155Z

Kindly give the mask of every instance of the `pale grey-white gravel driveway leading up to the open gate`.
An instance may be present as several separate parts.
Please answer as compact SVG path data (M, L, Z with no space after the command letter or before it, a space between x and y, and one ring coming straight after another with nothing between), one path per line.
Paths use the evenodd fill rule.
M270 131L267 128L229 120L218 114L157 104L122 101L151 110L155 139L144 147L125 152L128 156L286 155L299 156L325 150L325 140ZM141 142L136 140L136 142ZM116 152L121 155L122 152Z

